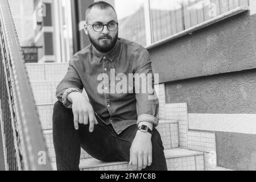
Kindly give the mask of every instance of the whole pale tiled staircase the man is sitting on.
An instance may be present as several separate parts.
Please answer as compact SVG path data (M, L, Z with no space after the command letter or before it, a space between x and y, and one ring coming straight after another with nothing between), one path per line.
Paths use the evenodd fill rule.
M68 64L26 64L26 67L52 160L52 168L56 169L52 142L52 110L57 101L56 86L67 72ZM165 104L162 85L157 86L156 90L159 92L160 103L160 121L157 129L163 140L168 170L204 170L204 152L188 150L187 104ZM101 162L92 158L84 150L81 150L80 169L84 171L131 170L127 162Z

